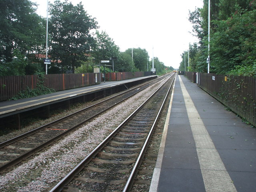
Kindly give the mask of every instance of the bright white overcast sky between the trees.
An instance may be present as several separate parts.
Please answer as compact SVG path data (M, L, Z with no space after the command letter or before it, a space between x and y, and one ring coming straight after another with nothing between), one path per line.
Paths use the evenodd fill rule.
M38 14L46 17L47 0L38 4ZM63 1L63 0L62 0ZM54 2L50 0L49 2ZM197 39L190 33L188 10L203 6L203 0L70 0L82 2L87 13L96 18L100 31L106 31L123 52L145 48L150 58L158 57L166 66L178 68L181 54ZM154 46L154 53L153 53ZM151 59L150 59L151 60Z

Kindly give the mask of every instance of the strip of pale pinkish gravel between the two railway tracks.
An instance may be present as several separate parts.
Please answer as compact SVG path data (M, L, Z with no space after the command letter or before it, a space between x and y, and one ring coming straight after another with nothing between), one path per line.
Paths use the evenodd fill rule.
M59 140L47 150L40 152L38 156L32 156L28 162L1 175L0 190L48 191L127 118L130 112L140 106L159 87L159 84L154 85L153 88L146 88Z

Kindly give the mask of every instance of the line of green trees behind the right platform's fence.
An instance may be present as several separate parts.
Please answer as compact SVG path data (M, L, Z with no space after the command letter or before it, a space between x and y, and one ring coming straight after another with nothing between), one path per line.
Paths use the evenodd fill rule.
M207 72L208 0L189 12L199 42L183 53L180 69ZM210 1L210 73L256 76L256 0Z

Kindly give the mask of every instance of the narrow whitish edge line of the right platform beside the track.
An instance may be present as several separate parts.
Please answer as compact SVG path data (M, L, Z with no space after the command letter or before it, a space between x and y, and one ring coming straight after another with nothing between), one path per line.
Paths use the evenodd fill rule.
M166 121L164 124L164 132L162 135L162 140L161 140L160 148L158 151L158 156L156 159L156 166L154 168L154 173L152 176L149 192L156 192L157 188L158 188L160 171L162 168L162 161L163 161L163 156L164 156L164 147L165 147L165 142L166 142L167 130L168 130L169 119L170 119L170 114L171 114L171 109L172 109L172 99L173 99L173 94L174 94L175 80L176 80L176 76L174 79L174 85L172 88L172 96L171 96L170 105L169 105L167 116L166 116Z

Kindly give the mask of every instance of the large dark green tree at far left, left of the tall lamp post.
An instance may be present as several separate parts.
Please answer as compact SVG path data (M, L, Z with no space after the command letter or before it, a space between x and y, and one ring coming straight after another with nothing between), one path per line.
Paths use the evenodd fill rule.
M13 74L8 68L19 72L15 72L16 75L24 74L28 64L26 57L44 49L45 20L35 11L36 4L29 0L0 1L0 69L6 71L5 75ZM14 68L17 59L23 60L22 70L17 65Z

